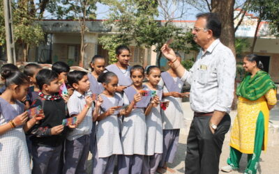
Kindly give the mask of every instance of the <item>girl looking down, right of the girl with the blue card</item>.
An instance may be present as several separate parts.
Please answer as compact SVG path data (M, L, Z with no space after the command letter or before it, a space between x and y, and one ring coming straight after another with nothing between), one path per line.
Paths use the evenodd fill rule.
M146 116L146 143L142 173L156 173L156 169L163 153L163 125L160 113L160 100L163 88L158 86L160 81L160 69L157 66L149 66L146 70L147 90L156 90L153 97L154 105Z

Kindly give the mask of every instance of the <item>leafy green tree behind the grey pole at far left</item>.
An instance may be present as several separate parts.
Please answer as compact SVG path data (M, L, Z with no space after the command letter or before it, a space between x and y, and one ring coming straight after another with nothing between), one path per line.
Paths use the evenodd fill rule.
M36 20L43 15L43 4L48 0L34 3L33 0L12 1L13 26L15 47L17 49L17 60L27 61L29 48L31 45L38 45L44 40L43 29L36 24ZM0 42L1 45L6 43L5 28L3 23L3 1L0 3ZM38 15L39 11L40 15ZM23 55L23 56L20 56Z

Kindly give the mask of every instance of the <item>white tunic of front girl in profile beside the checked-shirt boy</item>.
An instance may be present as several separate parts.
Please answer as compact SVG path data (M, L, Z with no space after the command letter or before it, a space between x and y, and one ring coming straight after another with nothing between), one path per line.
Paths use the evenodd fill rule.
M101 94L101 97L103 95ZM115 97L107 97L113 104L116 103ZM118 104L115 104L118 106ZM100 111L103 113L103 111ZM96 125L96 143L98 157L110 157L111 155L122 155L122 145L119 135L119 119L116 115L107 116L98 121Z

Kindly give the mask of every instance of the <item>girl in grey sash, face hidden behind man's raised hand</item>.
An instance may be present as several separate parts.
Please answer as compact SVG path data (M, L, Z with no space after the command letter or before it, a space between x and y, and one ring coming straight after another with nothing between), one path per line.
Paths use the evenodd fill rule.
M178 61L181 61L181 56L176 54ZM170 62L169 62L170 63ZM177 146L179 144L179 131L185 127L183 119L182 99L184 93L181 93L183 81L177 77L172 68L161 73L160 86L163 86L163 101L169 101L167 109L162 109L163 119L163 155L158 167L158 173L163 173L164 169L174 173L172 168L167 168L167 162L174 161Z

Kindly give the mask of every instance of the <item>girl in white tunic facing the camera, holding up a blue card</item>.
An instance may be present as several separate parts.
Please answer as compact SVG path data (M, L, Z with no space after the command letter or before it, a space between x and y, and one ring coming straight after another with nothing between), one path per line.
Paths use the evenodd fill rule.
M119 155L119 174L142 173L142 164L145 154L146 123L145 116L151 111L153 101L149 104L151 96L142 96L141 91L146 90L142 85L144 68L135 65L130 70L133 85L124 90L124 104L135 103L134 109L126 115L122 123L121 143L123 155ZM136 97L137 100L134 100Z

